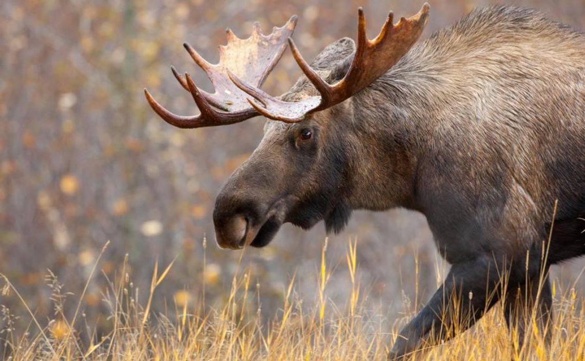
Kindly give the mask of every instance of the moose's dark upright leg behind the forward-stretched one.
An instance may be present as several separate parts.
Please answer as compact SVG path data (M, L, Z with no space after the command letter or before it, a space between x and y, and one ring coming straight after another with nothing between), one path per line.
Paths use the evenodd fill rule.
M551 309L552 292L548 276L542 282L538 275L528 277L524 283L508 287L504 316L518 350L522 348L526 332L531 330L532 325L538 328L538 335L544 336L546 342L550 341Z

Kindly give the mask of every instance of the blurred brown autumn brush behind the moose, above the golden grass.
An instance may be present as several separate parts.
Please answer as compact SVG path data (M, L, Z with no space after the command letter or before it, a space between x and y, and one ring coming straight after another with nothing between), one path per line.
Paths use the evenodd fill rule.
M475 6L491 3L430 2L423 38ZM584 28L583 0L508 2ZM358 6L364 6L373 37L388 11L409 16L421 5L422 0L3 0L0 272L12 280L37 318L47 320L53 317L47 269L59 277L64 291L73 293L68 301L73 307L66 313L74 312L100 250L111 241L82 306L104 329L108 320L98 316L106 311L102 298L107 297L107 279L119 276L126 254L129 276L145 292L154 263L166 265L176 258L154 300L155 311L163 311L173 297L198 300L203 282L207 305L214 307L227 297L238 264L250 268L254 282L260 283L267 318L281 307L295 274L300 297L314 298L325 239L322 224L308 232L284 225L268 247L247 249L243 256L215 244L215 195L259 143L264 119L180 130L154 114L142 89L149 88L173 112L194 114L191 96L169 66L191 72L208 91L211 85L184 51L183 41L215 63L226 27L247 37L256 20L270 32L297 14L294 38L305 58L312 58L331 41L355 36ZM300 74L287 50L264 89L282 93ZM371 310L390 323L400 317L405 303L428 300L448 270L420 214L359 211L345 231L328 241L328 262L338 268L328 294L342 305L349 294L345 252L354 238L360 283ZM583 265L580 259L555 267L553 276L566 284L576 282L582 294L585 282L578 276ZM14 294L1 295L0 304L13 312L22 309Z

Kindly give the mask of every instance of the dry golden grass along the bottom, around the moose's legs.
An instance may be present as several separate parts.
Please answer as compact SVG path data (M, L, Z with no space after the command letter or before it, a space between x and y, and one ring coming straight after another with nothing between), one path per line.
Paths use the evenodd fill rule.
M107 244L106 244L107 246ZM104 247L105 248L105 247ZM103 253L103 251L102 251ZM6 329L5 359L9 360L383 360L394 342L398 329L414 314L411 312L387 329L379 317L364 309L362 287L357 282L356 244L350 242L347 268L350 284L347 304L331 303L327 283L332 276L326 264L326 242L322 249L317 284L318 297L307 304L294 293L294 277L284 290L284 304L272 322L260 318L260 285L251 282L250 272L243 270L233 277L225 303L217 309L205 308L204 300L192 300L188 291L174 294L174 310L154 313L152 295L171 270L155 266L146 303L137 302L137 290L122 265L121 276L111 283L112 294L104 297L111 310L113 324L109 334L96 335L90 345L81 341L79 327L81 301L73 318L64 317L67 294L56 277L47 281L53 288L56 320L46 327L36 320L18 290L4 276L2 292L14 293L30 315L25 332L13 329L11 313L2 308ZM98 269L99 258L90 279ZM89 283L89 282L88 282ZM87 287L86 287L87 288ZM85 291L84 291L85 293ZM501 307L496 306L470 331L439 347L414 355L417 360L583 360L585 353L585 310L583 298L572 287L553 283L555 317L548 327L550 345L534 326L525 346L518 349L512 342ZM253 296L251 296L253 295ZM81 294L80 299L83 298ZM208 311L205 311L205 310ZM91 338L91 337L90 337Z

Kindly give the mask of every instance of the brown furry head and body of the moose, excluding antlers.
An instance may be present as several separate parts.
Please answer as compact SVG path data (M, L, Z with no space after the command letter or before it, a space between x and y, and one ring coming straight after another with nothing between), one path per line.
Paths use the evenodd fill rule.
M338 40L312 66L335 82L353 48L352 40ZM313 94L301 78L283 98ZM302 129L313 132L310 141L300 140ZM252 245L266 245L287 221L308 228L324 220L328 231L339 231L354 209L407 207L425 214L453 267L401 331L391 357L452 336L449 321L441 321L449 312L444 294L473 291L461 310L474 316L463 326L472 325L486 303L504 297L486 296L498 289L502 269L511 286L507 320L522 330L524 320L514 315L528 306L512 301L517 289L536 294L541 267L585 254L579 219L585 218L585 36L536 11L474 11L415 45L352 98L302 123L269 121L264 133L218 196L221 245L239 248L254 227ZM236 215L246 230L232 224ZM544 322L548 279L539 300L531 300L541 305Z

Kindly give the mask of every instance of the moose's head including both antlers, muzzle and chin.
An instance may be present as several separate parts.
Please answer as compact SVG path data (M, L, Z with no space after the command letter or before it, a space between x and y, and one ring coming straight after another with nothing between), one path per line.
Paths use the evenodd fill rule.
M385 74L417 41L428 18L429 5L411 18L393 24L393 13L378 36L366 36L366 19L358 12L357 46L344 38L327 46L311 65L291 39L293 16L265 36L258 23L252 35L239 39L227 30L228 43L219 47L219 63L209 64L191 46L192 59L211 79L215 93L197 88L189 74L173 74L191 93L200 113L178 116L164 109L144 89L154 111L180 128L220 126L263 115L270 119L264 137L249 159L236 169L219 193L214 210L216 239L221 247L269 244L283 223L310 228L324 220L326 230L340 231L353 209L386 209L387 200L407 201L411 167L407 157L380 159L387 140L356 107L367 87ZM278 98L260 90L282 56L287 43L304 72L290 91ZM361 99L355 100L362 92ZM383 161L383 164L381 164ZM394 186L380 190L377 166L393 169ZM407 202L408 203L408 202Z

